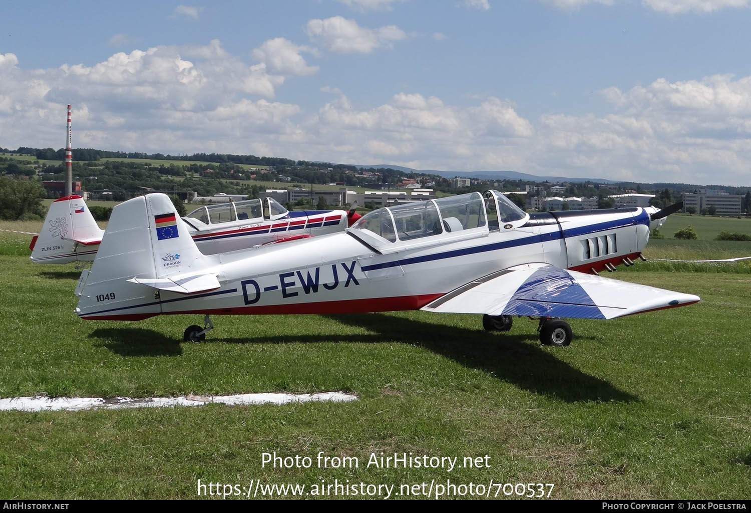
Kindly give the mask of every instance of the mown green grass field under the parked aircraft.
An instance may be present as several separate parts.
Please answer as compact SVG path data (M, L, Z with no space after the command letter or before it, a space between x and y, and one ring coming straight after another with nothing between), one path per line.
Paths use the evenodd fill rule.
M20 227L32 226L0 226ZM394 485L391 498L403 485L448 480L550 483L553 499L751 496L751 274L621 267L613 278L701 302L572 320L567 348L541 347L526 318L496 335L478 316L426 312L213 317L207 341L192 344L182 330L200 316L80 320L80 271L30 263L28 242L0 232L0 398L339 390L360 400L0 412L4 499L211 498L198 495L199 480L307 490L349 480ZM273 452L312 465L264 466ZM324 468L319 452L359 464ZM382 453L482 463L367 466Z

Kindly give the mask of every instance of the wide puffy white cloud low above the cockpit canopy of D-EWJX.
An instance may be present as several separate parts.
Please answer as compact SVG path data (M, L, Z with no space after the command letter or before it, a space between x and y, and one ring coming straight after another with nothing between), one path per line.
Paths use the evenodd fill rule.
M472 166L485 165L489 151L533 134L529 121L497 98L486 98L472 107L453 107L437 97L405 92L369 110L359 110L339 95L301 126L309 134L301 148L314 156L309 158L388 162L418 169L467 169L470 161ZM493 163L499 161L511 159L506 154ZM514 162L522 163L520 159Z

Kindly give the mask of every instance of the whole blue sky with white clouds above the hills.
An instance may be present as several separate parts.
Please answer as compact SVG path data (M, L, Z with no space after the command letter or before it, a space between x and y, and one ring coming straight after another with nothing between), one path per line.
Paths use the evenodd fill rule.
M2 0L0 147L751 186L751 0L182 1Z

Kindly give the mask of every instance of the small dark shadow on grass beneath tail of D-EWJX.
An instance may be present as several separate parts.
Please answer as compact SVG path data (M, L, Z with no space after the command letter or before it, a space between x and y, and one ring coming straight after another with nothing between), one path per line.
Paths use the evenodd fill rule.
M89 338L104 339L95 343L120 356L182 356L182 347L152 329L100 328Z

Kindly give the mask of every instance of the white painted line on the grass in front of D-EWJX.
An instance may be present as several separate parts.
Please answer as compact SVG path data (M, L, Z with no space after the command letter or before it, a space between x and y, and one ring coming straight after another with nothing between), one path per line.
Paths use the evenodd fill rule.
M119 410L121 408L204 406L204 404L288 404L308 401L357 401L357 395L344 392L321 392L318 394L238 394L238 395L188 395L178 398L33 398L0 399L0 411L21 410L25 412Z

